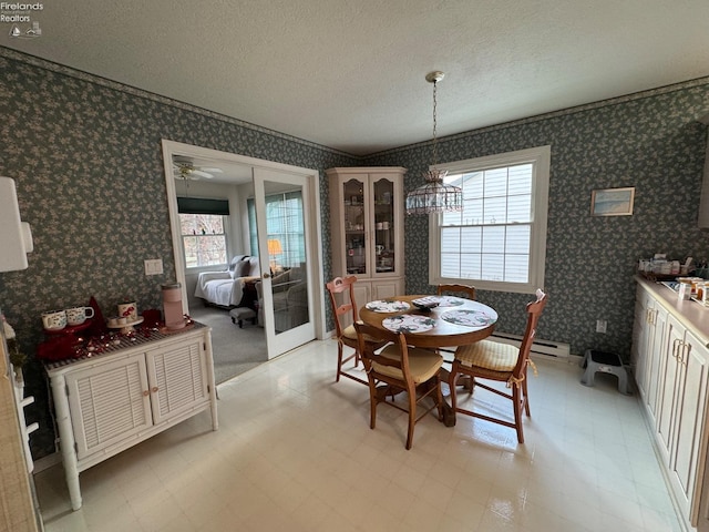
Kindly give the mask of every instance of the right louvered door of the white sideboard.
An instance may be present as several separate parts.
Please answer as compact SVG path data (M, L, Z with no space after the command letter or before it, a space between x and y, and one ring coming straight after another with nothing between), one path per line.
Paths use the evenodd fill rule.
M202 337L150 350L145 360L155 424L209 402Z

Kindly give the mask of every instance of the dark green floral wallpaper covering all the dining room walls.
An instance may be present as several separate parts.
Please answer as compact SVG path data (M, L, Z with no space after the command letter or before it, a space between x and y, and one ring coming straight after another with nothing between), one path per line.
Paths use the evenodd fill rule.
M175 275L162 139L319 170L325 228L326 168L403 166L409 191L430 163L429 143L357 158L1 47L0 70L0 175L16 180L34 235L29 268L0 274L0 308L29 352L43 338L43 310L91 296L104 314L126 297L160 306L160 284ZM656 252L709 259L696 223L707 139L697 119L707 113L703 79L440 140L443 162L552 146L549 304L540 338L568 342L576 355L596 348L627 359L637 259ZM592 217L592 191L620 186L636 187L634 215ZM327 279L327 231L322 246ZM407 291L432 293L425 217L407 218L405 255ZM146 277L143 260L155 257L165 273ZM523 331L530 296L481 290L479 298L499 310L499 330ZM596 319L608 321L607 334L595 332ZM29 421L40 421L31 439L40 458L54 451L54 432L39 364L27 380L38 398Z

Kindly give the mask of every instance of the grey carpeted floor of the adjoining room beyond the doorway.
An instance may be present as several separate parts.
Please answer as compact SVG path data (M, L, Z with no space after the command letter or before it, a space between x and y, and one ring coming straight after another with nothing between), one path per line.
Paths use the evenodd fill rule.
M266 334L250 320L244 328L232 323L229 311L216 307L191 308L191 317L212 327L214 377L217 385L268 360Z

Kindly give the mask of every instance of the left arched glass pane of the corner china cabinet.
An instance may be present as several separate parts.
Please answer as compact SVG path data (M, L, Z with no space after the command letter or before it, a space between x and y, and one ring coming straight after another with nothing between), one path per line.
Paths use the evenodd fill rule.
M358 180L342 183L345 198L345 248L348 275L367 275L368 221L364 209L364 184Z

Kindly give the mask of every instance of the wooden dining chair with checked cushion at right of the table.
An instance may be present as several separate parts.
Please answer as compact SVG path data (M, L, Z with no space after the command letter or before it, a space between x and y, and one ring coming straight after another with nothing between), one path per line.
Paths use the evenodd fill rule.
M449 387L451 390L451 407L455 413L464 413L475 418L492 421L494 423L511 427L517 431L517 441L524 443L524 431L522 428L522 411L530 417L530 401L527 398L527 364L530 360L530 349L536 334L536 326L542 316L542 310L546 306L547 297L542 290L536 290L536 300L526 306L527 325L524 338L518 348L508 344L501 344L492 340L481 340L469 346L461 346L455 351L455 359L449 375ZM511 399L514 409L514 422L502 418L495 418L464 409L458 406L458 395L455 391L459 376L473 378L473 390L481 388L497 396ZM506 382L506 387L512 392L505 392L492 386L482 383L481 380L493 380ZM475 398L473 398L474 400Z

